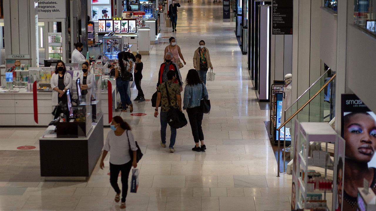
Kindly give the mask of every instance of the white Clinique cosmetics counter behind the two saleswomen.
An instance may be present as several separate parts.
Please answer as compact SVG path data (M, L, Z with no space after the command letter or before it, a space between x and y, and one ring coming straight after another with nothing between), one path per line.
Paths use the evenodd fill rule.
M78 97L76 79L80 71L76 70L75 66L66 66L67 74L71 74L73 81L70 89L72 98L76 100ZM52 115L55 106L52 105L52 89L50 80L52 74L55 72L55 67L33 67L27 71L13 71L5 72L6 80L0 84L0 126L41 126L45 127L54 119ZM112 112L117 106L116 98L116 83L114 80L108 80L106 77L102 78L102 71L99 69L91 69L91 73L96 75L95 93L96 110L95 113L102 113L106 118L104 124L108 124L108 81L111 83L112 96ZM5 82L6 81L6 82ZM34 116L34 101L33 101L33 83L36 81L37 89L37 108L38 121L35 121ZM94 95L94 93L93 93Z

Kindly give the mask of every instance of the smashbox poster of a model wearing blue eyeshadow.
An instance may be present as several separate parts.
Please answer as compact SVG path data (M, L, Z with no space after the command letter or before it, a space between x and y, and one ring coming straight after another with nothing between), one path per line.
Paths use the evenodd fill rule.
M344 193L339 206L342 210L353 210L358 206L357 188L363 187L364 179L376 192L376 115L355 94L343 94L341 97L341 135L346 147ZM366 175L374 176L367 178Z

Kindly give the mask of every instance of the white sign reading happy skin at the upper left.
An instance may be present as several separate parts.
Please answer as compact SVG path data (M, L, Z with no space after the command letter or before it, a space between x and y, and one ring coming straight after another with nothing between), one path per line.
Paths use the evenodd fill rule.
M66 18L65 1L38 0L38 18Z

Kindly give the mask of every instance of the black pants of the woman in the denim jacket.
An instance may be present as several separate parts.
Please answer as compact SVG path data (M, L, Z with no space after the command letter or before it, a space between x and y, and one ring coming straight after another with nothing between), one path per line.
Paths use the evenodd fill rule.
M200 111L200 107L188 108L187 109L189 123L191 124L192 135L194 143L199 143L199 140L204 140L204 134L202 132L202 118L204 113Z

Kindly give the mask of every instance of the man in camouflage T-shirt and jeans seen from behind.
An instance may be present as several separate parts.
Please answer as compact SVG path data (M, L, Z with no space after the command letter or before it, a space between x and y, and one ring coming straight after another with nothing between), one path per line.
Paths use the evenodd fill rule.
M154 116L158 117L158 107L161 104L161 146L163 148L166 147L166 128L167 128L167 113L170 110L170 106L174 109L179 108L182 111L182 98L180 96L180 87L178 84L174 83L176 81L176 72L175 71L168 71L167 72L167 82L161 83L161 86L158 88L158 96L157 96L157 103L156 109L154 112ZM167 87L166 87L167 84ZM167 90L170 97L170 101L168 101L167 97ZM171 103L171 104L170 104ZM175 152L174 145L176 139L176 128L171 127L171 136L170 136L170 146L168 146L170 152Z

